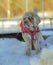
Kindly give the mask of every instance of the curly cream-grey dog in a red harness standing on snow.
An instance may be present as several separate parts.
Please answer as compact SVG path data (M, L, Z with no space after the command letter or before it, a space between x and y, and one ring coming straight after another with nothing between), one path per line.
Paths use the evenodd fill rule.
M20 23L22 30L22 37L26 42L26 55L31 54L32 44L34 45L35 52L40 52L39 34L40 29L38 24L40 23L40 17L33 12L26 12L22 16Z

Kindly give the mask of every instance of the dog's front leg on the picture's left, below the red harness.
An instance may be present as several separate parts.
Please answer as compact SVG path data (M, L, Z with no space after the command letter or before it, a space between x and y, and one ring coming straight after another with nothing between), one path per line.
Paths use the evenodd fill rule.
M22 34L24 41L26 42L26 55L31 54L31 36L28 33Z

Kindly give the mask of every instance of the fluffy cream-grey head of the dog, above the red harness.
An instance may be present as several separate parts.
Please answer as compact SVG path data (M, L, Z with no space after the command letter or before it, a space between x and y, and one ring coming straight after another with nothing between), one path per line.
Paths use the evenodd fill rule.
M40 23L40 18L33 12L26 12L22 18L23 24L29 29L33 30Z

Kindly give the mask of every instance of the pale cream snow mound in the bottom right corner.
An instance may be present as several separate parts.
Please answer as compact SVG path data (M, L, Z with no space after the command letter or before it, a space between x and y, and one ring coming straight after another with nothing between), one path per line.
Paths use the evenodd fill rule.
M44 48L40 54L40 58L33 58L30 61L31 65L53 65L53 45L49 48Z

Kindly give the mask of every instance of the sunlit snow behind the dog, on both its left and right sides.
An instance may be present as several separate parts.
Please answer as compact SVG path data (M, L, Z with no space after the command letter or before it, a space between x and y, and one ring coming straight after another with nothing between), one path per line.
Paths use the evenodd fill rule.
M52 20L53 21L53 20ZM42 29L53 29L53 22L49 19L41 20L39 24L40 30ZM9 23L10 22L10 23ZM0 21L0 34L18 33L21 32L20 21ZM53 35L53 31L41 31L42 35ZM49 33L50 32L50 33Z

